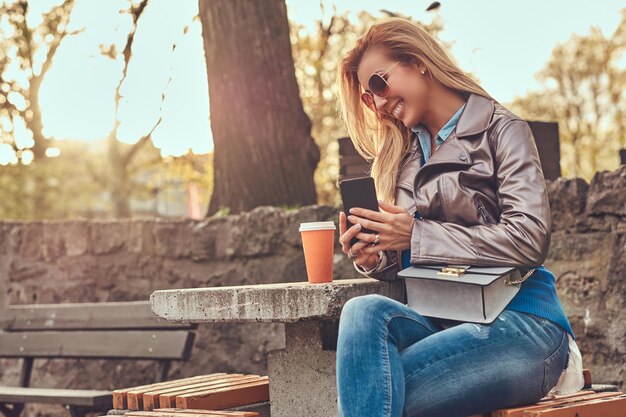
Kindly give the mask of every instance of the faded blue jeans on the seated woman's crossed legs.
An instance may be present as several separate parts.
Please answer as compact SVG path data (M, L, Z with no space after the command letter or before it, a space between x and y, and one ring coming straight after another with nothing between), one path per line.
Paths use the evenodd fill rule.
M425 317L372 294L344 305L337 340L341 417L466 417L532 404L556 385L567 332L504 310L490 324Z

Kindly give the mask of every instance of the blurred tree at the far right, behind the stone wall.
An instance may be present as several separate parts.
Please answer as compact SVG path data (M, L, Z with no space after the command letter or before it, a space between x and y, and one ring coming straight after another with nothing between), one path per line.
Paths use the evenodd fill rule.
M537 74L544 89L511 104L525 119L558 121L564 176L590 180L596 171L619 165L618 149L626 148L625 49L623 9L611 36L592 27L557 45Z

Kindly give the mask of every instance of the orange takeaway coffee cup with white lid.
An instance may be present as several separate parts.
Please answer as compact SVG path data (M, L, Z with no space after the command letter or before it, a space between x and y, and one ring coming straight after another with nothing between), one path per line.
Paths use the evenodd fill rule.
M336 229L332 221L300 223L304 262L311 284L333 281Z

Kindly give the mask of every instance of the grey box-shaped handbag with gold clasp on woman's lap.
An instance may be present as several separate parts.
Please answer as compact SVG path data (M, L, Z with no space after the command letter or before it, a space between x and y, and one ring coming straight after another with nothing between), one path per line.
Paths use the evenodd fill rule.
M419 265L398 272L407 305L423 316L491 323L535 269L515 267Z

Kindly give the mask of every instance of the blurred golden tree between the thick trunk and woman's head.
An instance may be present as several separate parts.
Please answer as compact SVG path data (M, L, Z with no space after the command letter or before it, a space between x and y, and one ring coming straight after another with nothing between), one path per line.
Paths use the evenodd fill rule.
M320 1L321 18L316 20L312 32L304 25L291 22L291 45L304 110L311 119L312 136L321 150L320 164L315 172L318 201L339 206L337 139L348 133L337 112L337 67L341 57L354 46L357 38L365 33L377 17L364 11L355 16L348 13L337 15L334 6L331 6L332 13L328 9L326 2ZM400 16L419 23L435 37L443 30L439 17L424 24L410 16L387 10L381 12L383 15ZM442 44L448 46L445 42Z

